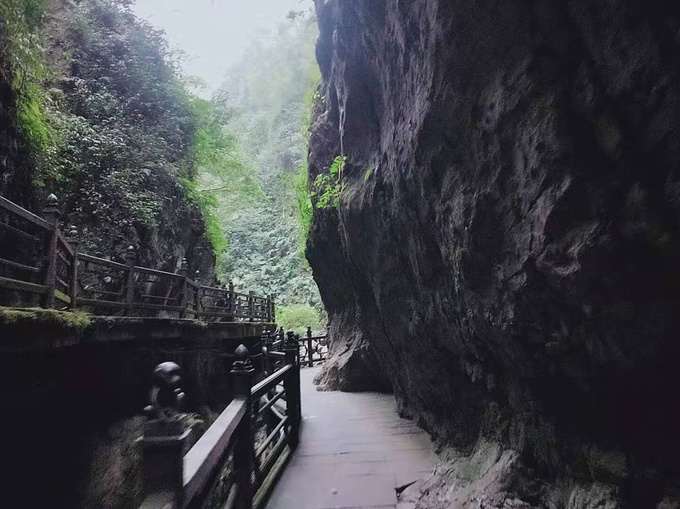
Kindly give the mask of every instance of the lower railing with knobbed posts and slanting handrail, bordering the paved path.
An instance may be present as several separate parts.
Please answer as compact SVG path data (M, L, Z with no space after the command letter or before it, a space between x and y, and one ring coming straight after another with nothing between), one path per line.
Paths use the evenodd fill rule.
M231 377L234 399L188 451L181 414L159 402L184 399L179 367L156 368L142 446L143 509L262 507L291 452L301 422L298 343L289 333L283 365L253 385L255 370L244 345ZM270 354L263 349L265 357Z

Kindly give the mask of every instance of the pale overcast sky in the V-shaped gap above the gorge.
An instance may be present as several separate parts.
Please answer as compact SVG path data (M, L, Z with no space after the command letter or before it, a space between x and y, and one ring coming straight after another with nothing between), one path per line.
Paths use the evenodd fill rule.
M137 0L134 11L187 54L188 75L215 89L255 37L273 31L290 10L311 5L312 0Z

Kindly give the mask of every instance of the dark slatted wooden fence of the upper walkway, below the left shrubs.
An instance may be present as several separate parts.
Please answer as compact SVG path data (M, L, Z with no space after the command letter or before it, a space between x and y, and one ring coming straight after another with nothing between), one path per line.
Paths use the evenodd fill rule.
M47 206L43 211L44 219L2 196L0 196L0 208L42 228L47 234L36 236L32 230L24 231L22 227L6 223L0 224L4 231L9 231L31 241L44 243L43 249L46 251L41 254L41 258L46 263L41 262L37 266L0 259L0 264L8 267L7 272L11 272L11 274L3 274L11 277L0 279L0 288L23 291L29 294L41 293L38 288L42 288L42 305L44 307L59 305L55 301L54 291L58 289L57 286L60 286L59 290L68 289L70 297L68 303L71 309L76 309L79 306L96 307L101 312L106 311L107 308L123 307L128 315L133 314L136 310L166 311L179 313L180 318L190 314L195 318L208 320L274 322L273 297L257 296L252 292L248 294L236 292L231 283L229 288L203 285L200 281L194 281L187 276L188 264L186 260L182 261L182 267L175 273L136 265L136 253L132 246L126 252L126 263L114 262L79 252L74 232L69 232L69 236L73 236L73 238L67 238L57 227L59 209L57 198L54 195L48 197ZM45 238L43 239L43 237ZM84 265L79 268L79 264ZM12 271L11 269L16 270ZM104 286L103 289L92 288L104 283L106 285L111 284L111 280L104 283L101 280L101 278L111 278L112 275L107 274L107 269L118 271L113 277L115 278L114 284L120 287L120 293L109 291L111 287L107 286ZM35 280L40 281L42 279L41 282L44 284L38 286L33 278L26 281L28 279L26 274L15 275L13 272L17 271L28 271L36 274ZM68 273L68 277L60 279L58 274L63 274L63 271ZM153 276L157 280L150 280L148 277L142 276ZM146 284L161 284L167 288L160 294L156 294L155 290L151 292L142 291L147 290L144 287ZM167 295L163 295L163 292L166 292ZM82 295L78 296L79 293ZM102 300L95 298L97 295L116 295L119 296L120 300ZM145 301L145 299L165 302L154 304ZM66 299L61 295L58 296L57 300L61 303L66 302ZM63 305L60 306L64 307Z

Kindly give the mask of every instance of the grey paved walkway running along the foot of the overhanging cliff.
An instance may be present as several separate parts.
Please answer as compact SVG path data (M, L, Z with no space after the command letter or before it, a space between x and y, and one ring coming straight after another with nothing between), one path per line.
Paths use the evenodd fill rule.
M395 488L434 467L429 436L397 415L391 395L317 392L318 370L300 372L300 445L267 508L396 508Z

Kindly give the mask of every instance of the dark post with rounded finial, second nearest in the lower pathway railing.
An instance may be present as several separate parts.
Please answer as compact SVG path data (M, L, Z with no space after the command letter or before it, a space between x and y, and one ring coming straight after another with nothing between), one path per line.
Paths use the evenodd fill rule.
M250 390L253 386L254 374L255 369L250 362L250 352L245 345L240 345L236 349L236 361L234 361L231 370L234 397L243 398L246 402L246 413L241 420L239 438L234 446L234 469L238 483L240 509L251 509L253 507L251 479L255 465L255 446L251 425L253 401L250 397Z

